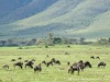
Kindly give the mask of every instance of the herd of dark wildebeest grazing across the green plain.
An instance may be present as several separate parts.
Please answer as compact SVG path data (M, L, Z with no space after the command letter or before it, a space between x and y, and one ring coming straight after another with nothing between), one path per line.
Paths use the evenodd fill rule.
M46 57L50 57L48 55ZM22 60L22 57L19 57L18 58L20 61L16 61L16 59L11 59L11 62L13 62L13 68L15 67L19 67L20 69L28 69L28 68L31 68L34 73L35 72L41 72L43 70L42 66L46 66L47 68L48 67L52 67L52 66L62 66L62 62L61 60L57 60L56 58L52 58L50 61L45 61L43 60L42 62L40 62L37 66L34 67L34 62L35 62L35 59L31 59L31 60ZM95 56L91 56L90 59L99 59L100 60L100 57L95 57ZM69 62L67 61L66 62L66 66L68 66L68 73L72 73L74 74L75 71L77 71L77 74L79 75L79 72L80 71L84 71L85 68L92 68L92 65L90 63L90 61L84 61L84 60L79 60L78 62ZM97 63L97 67L98 68L105 68L106 67L106 62L103 61L99 61L99 63ZM4 65L2 67L3 69L6 70L9 70L10 69L10 66L9 65Z

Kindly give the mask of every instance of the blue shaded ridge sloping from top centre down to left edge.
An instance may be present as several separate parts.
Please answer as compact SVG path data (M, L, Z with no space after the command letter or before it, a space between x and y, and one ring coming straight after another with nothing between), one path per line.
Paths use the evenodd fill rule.
M16 1L10 1L10 0L8 0L8 1L10 3L13 2L13 4L10 4L10 8L12 8L14 5L14 2L16 2ZM18 1L16 4L21 3L23 5L13 10L11 13L7 14L7 16L1 19L0 21L14 22L18 20L22 20L22 19L29 17L29 16L32 16L34 14L37 14L37 13L44 11L46 8L48 8L50 5L52 5L57 0L30 0L30 2L28 0L22 0L21 2ZM7 10L9 10L9 9L7 9Z

